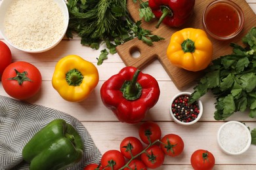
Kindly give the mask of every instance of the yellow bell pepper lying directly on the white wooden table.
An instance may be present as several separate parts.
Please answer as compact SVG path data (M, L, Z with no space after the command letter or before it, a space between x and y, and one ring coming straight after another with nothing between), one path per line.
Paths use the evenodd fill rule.
M52 84L63 99L83 101L98 84L98 70L79 56L66 56L56 64Z

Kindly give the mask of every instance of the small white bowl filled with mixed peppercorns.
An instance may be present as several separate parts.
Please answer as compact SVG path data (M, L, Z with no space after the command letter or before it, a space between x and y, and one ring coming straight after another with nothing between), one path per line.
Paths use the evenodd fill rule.
M178 93L171 99L169 111L173 121L181 125L192 125L200 120L203 114L202 101L188 103L190 92Z

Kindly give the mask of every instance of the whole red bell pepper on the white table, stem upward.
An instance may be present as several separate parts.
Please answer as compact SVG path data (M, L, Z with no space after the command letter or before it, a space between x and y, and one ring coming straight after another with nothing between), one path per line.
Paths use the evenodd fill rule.
M120 122L136 124L156 105L160 88L153 76L135 67L124 67L102 84L100 95L103 104Z

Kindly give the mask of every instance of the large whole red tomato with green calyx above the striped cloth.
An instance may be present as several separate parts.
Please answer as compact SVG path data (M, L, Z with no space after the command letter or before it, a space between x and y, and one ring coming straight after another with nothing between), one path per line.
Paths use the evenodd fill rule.
M3 71L2 85L11 97L28 99L39 92L42 76L37 67L25 61L17 61L8 65Z

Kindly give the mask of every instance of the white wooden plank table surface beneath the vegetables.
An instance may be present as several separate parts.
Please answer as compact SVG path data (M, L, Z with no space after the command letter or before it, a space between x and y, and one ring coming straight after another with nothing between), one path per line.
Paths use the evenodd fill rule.
M246 1L256 13L256 0ZM3 40L3 37L0 37L0 40L6 42ZM97 66L96 58L99 56L100 50L93 50L89 47L82 46L79 39L72 39L70 41L64 39L52 50L41 54L28 54L16 50L12 48L12 46L9 47L12 51L13 61L28 61L35 65L43 76L41 91L35 95L35 97L27 101L61 110L80 120L91 134L91 137L102 154L107 150L119 150L119 144L125 137L133 136L139 138L138 129L140 124L125 124L119 122L112 111L104 107L100 99L100 87L102 83L125 67L125 64L121 58L119 58L118 54L110 55L102 65ZM100 75L98 86L96 86L89 98L81 103L65 101L53 89L51 84L56 62L69 54L76 54L93 62ZM180 91L177 90L167 73L165 73L159 61L153 61L143 69L142 72L154 76L158 80L161 90L158 103L148 112L143 121L151 120L157 122L161 127L162 135L175 133L182 137L185 144L184 152L182 152L180 156L177 158L166 156L163 165L158 169L192 169L190 156L192 152L200 148L213 153L216 161L214 169L256 169L256 146L251 145L249 150L241 156L228 156L224 154L217 145L217 131L224 122L216 121L213 118L213 113L215 112L215 98L211 93L207 93L207 95L202 97L204 109L200 122L188 127L179 126L171 119L169 103L171 98ZM194 86L192 85L190 88L183 91L192 92L193 88ZM0 95L9 96L5 93L5 90L3 90L1 82ZM228 120L245 122L251 129L256 127L256 120L249 118L247 112L234 114L228 118Z

